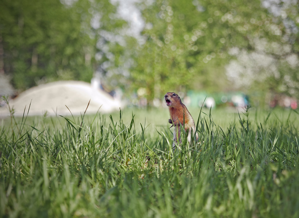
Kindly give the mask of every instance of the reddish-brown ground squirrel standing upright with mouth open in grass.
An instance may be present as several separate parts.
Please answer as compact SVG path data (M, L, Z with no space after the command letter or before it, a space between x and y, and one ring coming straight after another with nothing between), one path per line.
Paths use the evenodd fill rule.
M185 119L185 131L188 131L188 142L191 141L191 129L195 134L195 124L194 120L187 110L186 106L182 103L180 97L174 92L167 92L164 96L166 105L169 107L170 119L168 122L174 126L173 131L173 147L175 147L175 142L178 142L181 136L180 125L184 125ZM185 115L184 115L185 114ZM185 116L185 117L184 117ZM171 126L171 127L172 127ZM196 133L196 139L198 139L198 133Z

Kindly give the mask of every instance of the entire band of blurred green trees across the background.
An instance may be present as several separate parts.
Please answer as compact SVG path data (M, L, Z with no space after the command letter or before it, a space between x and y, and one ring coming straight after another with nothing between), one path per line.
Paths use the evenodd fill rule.
M299 97L297 1L140 0L135 36L121 3L3 0L0 74L19 90L96 74L149 102L190 89Z

